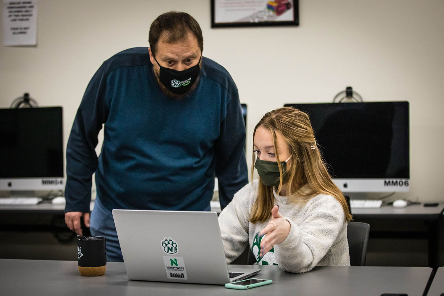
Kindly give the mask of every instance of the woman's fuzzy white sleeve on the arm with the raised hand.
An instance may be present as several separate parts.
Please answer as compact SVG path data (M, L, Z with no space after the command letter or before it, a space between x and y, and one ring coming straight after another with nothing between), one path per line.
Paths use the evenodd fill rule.
M304 219L297 225L288 218L288 237L275 245L275 259L282 270L307 272L325 256L345 223L339 201L330 195L313 197L306 206Z

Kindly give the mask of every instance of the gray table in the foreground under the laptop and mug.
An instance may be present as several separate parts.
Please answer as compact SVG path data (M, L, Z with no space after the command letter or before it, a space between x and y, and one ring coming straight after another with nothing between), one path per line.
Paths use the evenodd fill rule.
M237 265L255 268L251 265ZM258 278L273 284L246 291L218 285L129 281L123 263L108 262L104 276L80 276L76 261L0 259L3 295L298 295L422 296L432 274L428 267L316 267L293 274L262 266Z

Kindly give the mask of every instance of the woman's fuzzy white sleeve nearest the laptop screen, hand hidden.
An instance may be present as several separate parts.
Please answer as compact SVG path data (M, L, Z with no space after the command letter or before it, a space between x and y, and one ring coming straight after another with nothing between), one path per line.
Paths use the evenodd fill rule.
M222 242L227 264L238 258L248 245L250 184L245 185L233 197L219 215Z

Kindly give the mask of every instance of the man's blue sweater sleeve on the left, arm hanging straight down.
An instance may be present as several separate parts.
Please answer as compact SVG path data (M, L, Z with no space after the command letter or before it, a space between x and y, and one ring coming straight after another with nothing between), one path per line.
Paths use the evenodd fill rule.
M97 135L107 119L107 73L104 65L92 77L75 115L66 149L65 213L89 213L92 174L98 166Z

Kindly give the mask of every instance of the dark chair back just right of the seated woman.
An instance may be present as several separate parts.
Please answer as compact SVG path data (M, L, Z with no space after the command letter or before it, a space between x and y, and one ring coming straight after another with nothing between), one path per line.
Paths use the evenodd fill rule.
M350 265L365 266L367 242L370 225L362 222L347 223L347 240L349 241Z

